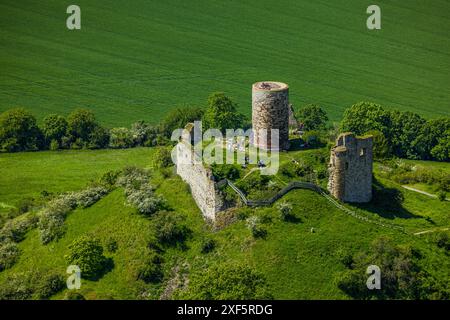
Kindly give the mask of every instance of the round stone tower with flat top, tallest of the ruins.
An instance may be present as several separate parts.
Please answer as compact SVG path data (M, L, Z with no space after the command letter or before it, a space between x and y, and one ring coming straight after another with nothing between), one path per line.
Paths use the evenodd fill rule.
M265 150L289 148L289 87L282 82L264 81L252 87L253 145ZM279 130L279 143L272 141L271 129Z

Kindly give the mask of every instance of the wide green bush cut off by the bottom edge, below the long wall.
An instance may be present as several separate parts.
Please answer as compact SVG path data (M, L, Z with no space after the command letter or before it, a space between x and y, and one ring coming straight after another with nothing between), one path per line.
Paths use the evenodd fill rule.
M175 299L260 300L272 299L263 275L247 265L221 264L196 272L186 291Z

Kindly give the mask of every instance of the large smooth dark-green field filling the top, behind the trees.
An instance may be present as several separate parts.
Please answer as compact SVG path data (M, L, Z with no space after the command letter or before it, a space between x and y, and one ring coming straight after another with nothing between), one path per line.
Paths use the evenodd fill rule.
M377 1L375 31L368 0L79 0L80 31L66 28L69 4L1 1L0 111L85 107L128 126L224 91L250 115L251 84L279 80L332 120L361 100L450 115L447 0Z

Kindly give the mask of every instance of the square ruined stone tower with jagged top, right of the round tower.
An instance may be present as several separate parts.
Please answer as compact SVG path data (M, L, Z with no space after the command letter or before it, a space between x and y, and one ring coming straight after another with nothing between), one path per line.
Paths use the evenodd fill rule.
M372 136L339 135L328 169L328 190L335 198L359 203L372 199L372 148Z

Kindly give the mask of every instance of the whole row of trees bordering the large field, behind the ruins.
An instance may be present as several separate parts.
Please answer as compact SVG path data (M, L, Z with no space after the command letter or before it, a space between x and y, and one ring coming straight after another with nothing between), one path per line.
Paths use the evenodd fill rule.
M333 130L318 105L306 105L295 115L304 140L311 143L317 137L329 137ZM39 126L30 112L16 108L0 114L0 152L167 145L173 130L195 120L202 120L205 130L251 127L249 119L237 111L236 103L223 93L211 94L205 108L176 108L157 125L138 121L131 128L107 129L86 109L77 109L67 118L51 114ZM345 110L337 131L373 135L376 158L450 161L448 117L427 120L413 112L360 102Z

